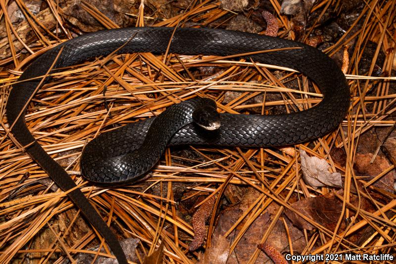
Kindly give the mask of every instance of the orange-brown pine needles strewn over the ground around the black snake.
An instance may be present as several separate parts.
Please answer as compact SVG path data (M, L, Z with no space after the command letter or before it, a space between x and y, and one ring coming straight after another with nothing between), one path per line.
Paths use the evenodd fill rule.
M66 231L60 232L56 225L56 215L74 208L67 199L66 193L49 191L49 187L43 188L38 182L19 190L27 183L46 179L48 175L12 143L10 139L12 135L8 134L10 124L6 122L4 106L9 89L12 84L18 82L22 70L38 55L71 38L71 32L62 26L64 17L58 11L56 1L49 2L50 10L58 21L59 30L63 32L62 35L55 36L44 28L23 1L16 1L28 18L32 30L40 39L28 47L22 40L15 38L14 25L8 21L9 15L5 8L8 1L0 0L0 20L5 23L7 39L10 42L9 56L0 60L1 263L13 258L21 258L28 253L42 254L40 255L42 263L51 263L56 256L60 256L57 263L66 258L73 261L76 253L82 252L94 254L95 258L110 256L108 251L98 253L88 250L94 245L100 245L104 249L107 247L92 229L82 230L81 238L74 241L74 244L69 244L67 235L72 232L72 226L78 227L76 221L81 217L79 212L70 219L71 223ZM295 36L290 18L280 15L281 1L269 2L275 9L274 14L280 26L278 36L293 39ZM199 161L195 158L178 157L170 147L158 165L151 170L153 175L146 180L148 185L140 189L134 185L116 188L92 185L80 175L79 157L82 148L89 140L100 133L114 129L114 124L125 125L158 115L166 107L195 96L216 100L219 111L228 113L244 113L249 107L260 107L264 114L273 107L283 107L286 112L293 112L312 107L321 101L319 89L295 70L264 65L249 59L239 59L236 56L184 54L164 56L152 53L118 55L114 51L106 57L99 57L76 67L64 68L62 72L50 74L53 76L51 83L44 85L34 96L33 104L28 106L26 121L34 137L52 158L58 161L69 159L65 165L66 170L115 232L123 238L133 237L141 240L137 251L141 261L145 255L154 252L161 243L164 245L163 260L166 262L193 263L198 257L197 253L188 250L194 231L178 212L179 207L172 190L175 183L189 184L182 201L198 195L205 196L196 205L197 208L216 196L210 220L206 223L208 225L206 247L211 246L211 234L217 216L222 210L219 203L224 199L224 192L231 184L254 188L259 192L259 196L223 234L227 237L238 230L238 234L231 242L230 252L238 246L257 217L272 203L279 205L279 209L271 219L268 229L262 234L260 241L262 244L267 242L278 219L285 223L283 218L285 207L308 219L291 207L290 198L316 197L327 194L332 189L323 187L315 190L302 181L298 155L300 149L306 151L309 156L326 159L333 171L339 170L343 176L345 175L344 196L339 197L343 201L343 213L337 227L335 230L328 230L308 219L316 229L309 235L304 232L307 246L302 254L387 253L396 245L395 195L379 191L379 194L384 195L383 201L389 201L384 204L383 201L379 202L372 197L371 192L377 190L373 183L388 171L395 169L394 165L390 165L370 181L356 177L353 165L361 133L373 127L392 127L395 123L394 120L389 119L389 116L396 110L394 104L396 95L390 93L391 81L394 82L396 77L371 76L380 51L385 52L386 55L385 62L381 65L383 70L392 72L396 53L395 3L395 0L368 0L347 33L326 50L330 55L342 52L345 45L356 37L357 46L348 58L349 63L344 65L351 91L351 107L339 129L311 143L294 146L291 154L274 148L216 149L210 146L186 146L184 149L194 152L195 156L204 160ZM82 1L82 8L95 17L103 28L118 27L89 2ZM145 8L145 1L141 1L139 13L132 14L137 16L138 26L152 23L151 18L155 16L153 14L152 17L147 18L148 13ZM311 12L316 10L323 15L327 11L337 11L337 8L339 8L338 1L316 1ZM226 24L230 14L235 15L230 10L222 9L218 1L193 0L183 13L163 21L158 20L160 22L154 26L182 27L192 22L200 26L216 27ZM320 18L318 17L317 20L319 21ZM363 21L362 28L348 35L359 20ZM303 37L308 38L308 32L312 32L313 29L314 27L307 28L307 34ZM17 52L14 47L15 42L11 40L21 42L33 54L26 56ZM369 40L379 45L368 74L358 75L357 65ZM12 69L2 70L3 65L12 65ZM196 70L200 66L216 66L220 71L202 77ZM43 75L45 76L45 73ZM278 78L278 76L282 77ZM40 78L42 79L43 76ZM289 82L297 83L297 90L288 88L286 85ZM376 93L367 96L370 89ZM103 90L105 90L104 95ZM225 103L225 94L234 91L239 91L241 94ZM268 95L271 93L279 93L282 97L276 101L269 101ZM257 95L264 99L263 103L247 103L248 99ZM105 109L104 100L108 103L109 110ZM368 105L373 106L371 111L367 110ZM345 150L347 154L345 167L333 161L330 151L335 147ZM185 161L193 165L187 166ZM30 174L29 178L23 179L23 175L27 172ZM356 183L367 188L363 189L364 191L357 190L356 195L359 200L357 206L349 201L350 188ZM155 184L161 185L159 195L150 193ZM164 186L167 189L162 188ZM19 191L8 200L14 190ZM363 198L371 200L377 211L368 212L362 208L360 202ZM387 212L392 213L389 214L391 216L386 214ZM340 230L341 222L345 217L349 217L351 222L346 230ZM375 229L375 233L363 245L357 247L349 239L350 235L362 232L368 225ZM290 252L293 253L286 223L285 228ZM34 246L37 235L42 234L44 229L49 230L54 240L44 248ZM249 256L249 263L254 263L260 252L259 249L255 249Z

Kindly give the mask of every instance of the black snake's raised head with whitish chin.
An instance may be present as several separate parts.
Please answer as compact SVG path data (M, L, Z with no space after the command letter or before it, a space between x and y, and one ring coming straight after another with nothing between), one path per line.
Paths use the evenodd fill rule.
M193 112L193 121L206 130L216 130L220 127L220 114L212 106L200 106Z

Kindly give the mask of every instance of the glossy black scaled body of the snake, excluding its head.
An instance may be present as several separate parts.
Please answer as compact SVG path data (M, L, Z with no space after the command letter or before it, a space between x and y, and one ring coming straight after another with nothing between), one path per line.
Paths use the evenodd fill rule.
M172 37L173 32L174 35ZM6 115L8 123L11 126L10 131L15 139L63 191L75 188L74 181L37 143L25 123L26 108L37 89L39 89L38 86L41 81L40 78L29 79L45 74L50 69L60 51L61 53L54 63L54 68L70 66L84 62L90 58L107 55L120 47L117 53L164 53L170 41L169 52L180 54L225 56L254 51L283 49L276 52L253 54L249 58L261 63L270 63L298 70L317 84L324 98L321 103L308 110L286 115L238 115L221 113L220 129L214 132L214 136L209 137L199 131L199 128L194 123L189 123L190 121L180 124L180 120L165 118L165 120L157 121L157 123L160 126L167 127L177 124L175 126L176 128L170 132L170 134L175 134L173 137L171 135L170 142L163 143L163 146L159 150L150 147L150 151L153 152L151 154L144 154L146 155L145 157L132 155L132 158L137 158L138 163L134 163L134 160L132 160L127 161L126 165L115 164L118 166L118 169L111 171L107 167L103 168L104 165L102 166L101 161L98 165L97 161L100 160L100 157L98 157L99 154L95 158L89 158L89 155L84 154L82 160L83 172L85 171L85 174L90 175L91 180L97 182L117 182L137 179L155 164L167 144L266 147L308 141L331 132L340 124L347 112L349 90L344 74L337 64L327 55L301 43L220 29L179 28L174 31L174 28L144 27L112 29L85 34L52 48L34 60L20 76L19 81L21 82L13 86L6 105ZM285 49L296 47L298 48ZM188 112L189 107L193 107L194 104L201 104L199 100L186 102L182 103L185 104L184 106L176 107L179 105L177 104L169 107L169 116L174 115L176 118L189 118L180 113ZM128 146L132 149L139 148L141 143L137 144L136 142L144 141L152 122L155 123L155 119L149 118L147 121L138 122L132 127L123 127L115 130L116 132L112 134L105 133L103 136L100 136L98 142L90 144L86 152L108 152L108 150L102 149L98 151L98 148L102 148L106 142L108 144L106 146L113 146L113 143L117 143L120 146ZM184 124L186 125L183 126ZM165 136L162 137L160 135L162 133L161 131L165 130L162 128L153 127L151 128L151 132L154 134L158 133L158 136L161 138L160 140L167 140ZM130 139L124 139L124 135L130 135L129 138L134 138L135 141L133 140L131 143ZM114 150L114 153L118 151ZM151 158L154 161L148 161L147 158ZM86 165L95 164L95 162L99 166L99 173L97 172L98 168L89 168ZM117 159L113 159L108 163L114 162L117 162ZM106 163L105 166L107 165ZM128 171L125 172L125 170ZM106 173L100 173L103 171ZM104 237L119 263L127 263L124 252L115 235L107 227L83 193L78 188L75 188L69 192L68 196Z

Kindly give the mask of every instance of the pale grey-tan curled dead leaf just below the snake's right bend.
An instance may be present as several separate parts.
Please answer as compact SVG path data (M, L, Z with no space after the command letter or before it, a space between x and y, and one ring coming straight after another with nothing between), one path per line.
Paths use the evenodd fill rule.
M330 172L330 165L325 159L309 157L303 150L300 150L300 157L303 179L307 184L313 187L342 187L341 174Z

